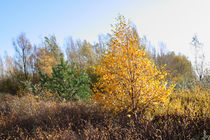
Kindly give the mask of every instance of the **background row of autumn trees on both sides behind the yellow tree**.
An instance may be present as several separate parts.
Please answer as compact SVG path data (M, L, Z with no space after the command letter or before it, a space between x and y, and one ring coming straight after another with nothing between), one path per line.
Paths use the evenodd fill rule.
M176 88L190 88L196 81L204 81L203 83L207 83L208 86L209 75L205 74L203 65L198 64L198 60L194 69L192 63L184 55L149 49L147 40L139 37L135 26L131 26L130 33L136 40L137 48L145 50L145 57L154 62L159 69L163 68L168 73L166 79L171 85L176 83ZM96 43L69 38L64 52L61 49L62 46L58 45L55 35L45 37L41 45L33 45L27 36L21 33L13 41L15 55L0 57L0 92L17 94L20 89L27 87L27 83L40 84L40 90L48 87L59 94L61 91L65 94L65 92L75 90L65 89L67 87L78 86L82 89L81 85L87 85L88 88L84 89L93 92L93 85L100 77L100 74L96 72L96 67L104 61L105 55L113 46L114 37L116 36L111 34L100 35ZM192 44L196 47L199 45L198 40L193 38ZM53 83L56 79L60 80L60 85ZM65 83L70 79L75 79L75 81ZM58 85L60 87L56 87Z

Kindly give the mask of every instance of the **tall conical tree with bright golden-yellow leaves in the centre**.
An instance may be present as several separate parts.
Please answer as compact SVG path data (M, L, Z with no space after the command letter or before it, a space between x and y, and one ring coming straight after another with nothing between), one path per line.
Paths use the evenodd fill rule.
M167 73L159 70L139 49L129 22L119 16L109 52L96 67L100 76L93 101L114 112L145 111L166 103L174 86L167 86Z

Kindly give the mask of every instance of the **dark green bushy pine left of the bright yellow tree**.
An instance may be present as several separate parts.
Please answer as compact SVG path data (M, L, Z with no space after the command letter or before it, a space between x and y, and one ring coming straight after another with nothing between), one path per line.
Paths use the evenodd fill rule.
M75 65L63 59L53 68L52 76L41 74L41 86L67 100L86 100L90 95L90 79L85 72L78 72Z

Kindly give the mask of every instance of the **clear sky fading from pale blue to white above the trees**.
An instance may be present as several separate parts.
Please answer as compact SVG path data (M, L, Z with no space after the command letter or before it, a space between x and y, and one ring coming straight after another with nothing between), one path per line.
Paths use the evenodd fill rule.
M209 0L0 0L0 55L13 55L12 40L26 33L32 44L54 34L61 46L65 39L97 40L109 33L120 13L136 24L158 47L192 58L190 41L197 33L210 60Z

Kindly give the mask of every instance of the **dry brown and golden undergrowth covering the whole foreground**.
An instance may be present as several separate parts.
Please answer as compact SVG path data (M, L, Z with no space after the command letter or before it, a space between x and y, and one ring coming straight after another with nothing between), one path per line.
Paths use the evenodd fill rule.
M0 139L207 139L209 93L174 93L168 106L150 112L149 119L113 116L82 102L5 95L0 98Z

